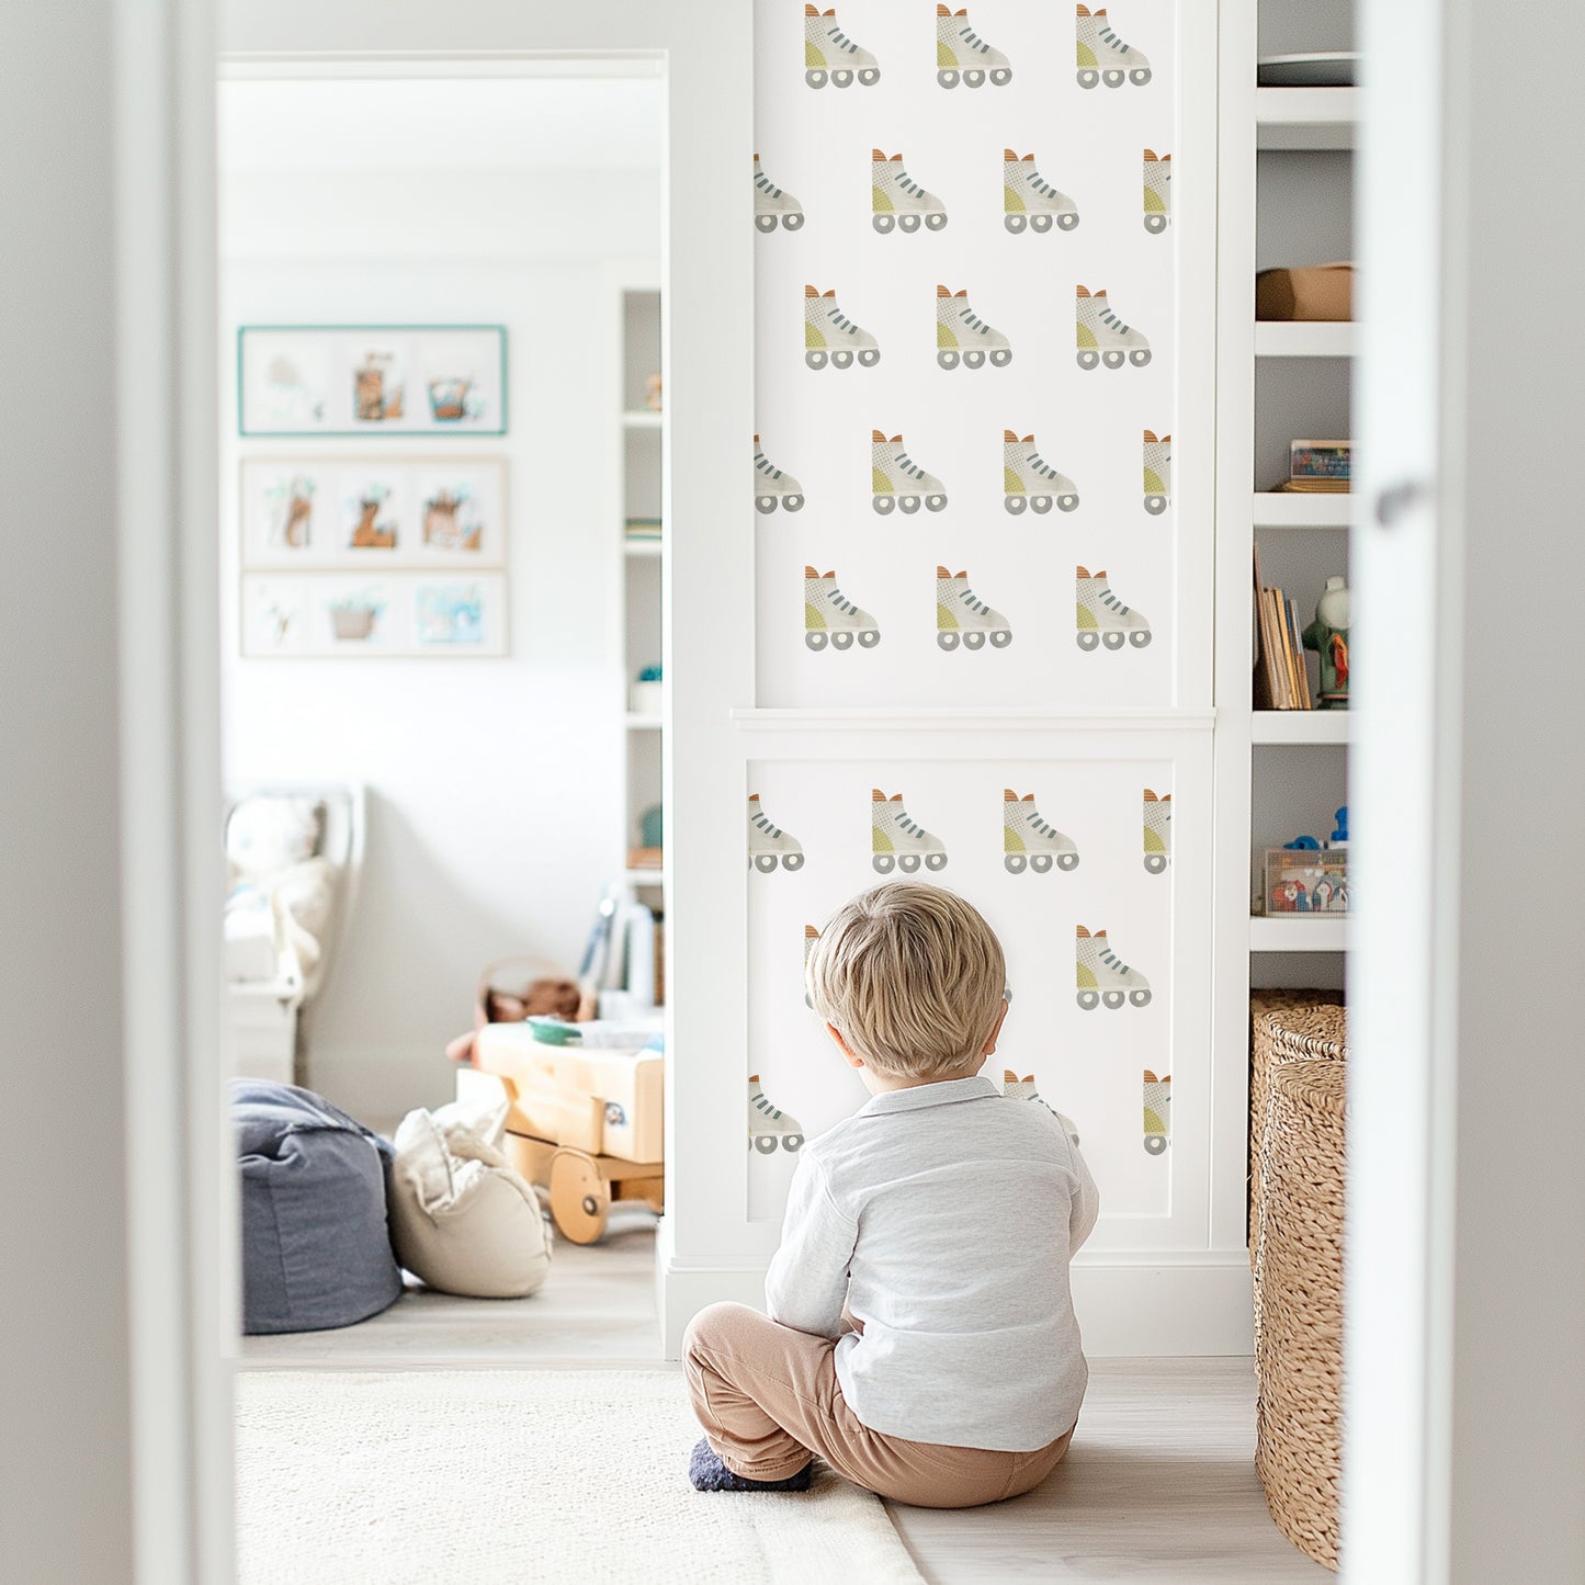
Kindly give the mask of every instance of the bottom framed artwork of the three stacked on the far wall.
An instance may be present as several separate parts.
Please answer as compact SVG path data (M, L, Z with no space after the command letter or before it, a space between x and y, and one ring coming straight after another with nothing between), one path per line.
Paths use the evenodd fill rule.
M252 659L506 655L504 572L246 572Z

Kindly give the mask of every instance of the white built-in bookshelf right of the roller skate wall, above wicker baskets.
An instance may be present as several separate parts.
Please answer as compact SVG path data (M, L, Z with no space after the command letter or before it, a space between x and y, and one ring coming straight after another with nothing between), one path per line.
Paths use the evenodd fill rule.
M1325 14L1322 14L1322 10ZM1255 84L1255 57L1347 48L1347 8L1314 13L1276 0L1224 0L1217 258L1217 607L1249 605L1251 563L1282 586L1306 623L1328 574L1347 575L1349 495L1273 487L1295 439L1349 436L1354 323L1278 323L1254 317L1257 269L1352 257L1354 89ZM1303 38L1278 40L1287 29ZM1342 36L1314 36L1335 29ZM1258 43L1257 43L1258 40ZM1330 837L1347 800L1347 710L1255 710L1252 623L1217 624L1217 965L1225 975L1217 1038L1243 1043L1238 984L1338 986L1347 951L1342 918L1265 916L1266 846ZM1316 659L1309 659L1316 686ZM1235 854L1247 853L1247 872ZM1235 924L1236 921L1236 924ZM1235 1021L1236 1019L1236 1021Z

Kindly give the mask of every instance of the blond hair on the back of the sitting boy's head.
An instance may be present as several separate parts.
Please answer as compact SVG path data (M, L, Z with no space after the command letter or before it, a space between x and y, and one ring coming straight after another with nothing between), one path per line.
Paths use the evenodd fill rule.
M1006 962L956 892L892 881L832 915L808 959L808 995L881 1073L935 1079L984 1054Z

